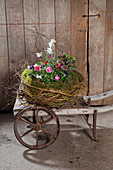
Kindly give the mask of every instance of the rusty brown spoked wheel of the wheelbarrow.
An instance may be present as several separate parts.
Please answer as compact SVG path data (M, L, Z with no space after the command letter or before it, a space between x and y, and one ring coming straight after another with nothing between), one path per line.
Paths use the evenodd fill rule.
M29 113L32 113L32 116L27 116ZM57 115L53 110L45 107L25 107L17 114L14 122L17 140L30 149L38 150L48 147L57 139L59 130Z

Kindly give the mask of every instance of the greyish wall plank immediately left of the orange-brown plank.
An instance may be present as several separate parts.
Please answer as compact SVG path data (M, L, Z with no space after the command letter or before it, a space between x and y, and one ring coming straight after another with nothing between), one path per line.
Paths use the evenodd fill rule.
M55 1L56 42L58 47L63 51L63 54L70 54L70 14L69 0ZM58 48L56 48L56 53L57 55L62 55Z

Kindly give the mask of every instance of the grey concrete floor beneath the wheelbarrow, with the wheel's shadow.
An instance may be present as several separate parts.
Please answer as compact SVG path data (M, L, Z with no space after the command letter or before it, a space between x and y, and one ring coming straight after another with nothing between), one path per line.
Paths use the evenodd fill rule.
M113 112L98 114L98 142L90 139L83 117L59 119L55 143L36 151L16 140L13 114L0 114L0 170L113 170Z

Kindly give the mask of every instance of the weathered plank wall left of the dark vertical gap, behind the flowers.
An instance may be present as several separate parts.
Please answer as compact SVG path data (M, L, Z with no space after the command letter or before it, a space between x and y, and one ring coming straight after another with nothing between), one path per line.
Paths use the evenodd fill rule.
M22 60L36 62L35 53L47 47L49 40L37 36L35 30L54 38L57 45L77 58L78 70L87 78L87 0L1 0L0 1L0 73L8 78L10 69ZM83 10L79 11L79 8ZM36 36L36 34L35 34ZM79 42L79 43L78 43ZM57 54L60 51L56 49ZM82 62L81 62L82 61ZM0 77L0 84L4 82ZM0 87L0 109L6 104L4 89Z

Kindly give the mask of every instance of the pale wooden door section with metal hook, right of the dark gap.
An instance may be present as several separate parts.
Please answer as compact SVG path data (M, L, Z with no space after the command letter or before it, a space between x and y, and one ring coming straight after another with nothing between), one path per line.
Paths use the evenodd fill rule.
M113 1L89 0L89 95L113 90ZM93 104L113 104L113 97Z

